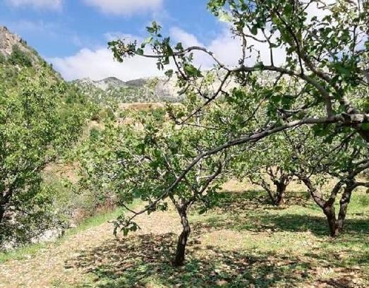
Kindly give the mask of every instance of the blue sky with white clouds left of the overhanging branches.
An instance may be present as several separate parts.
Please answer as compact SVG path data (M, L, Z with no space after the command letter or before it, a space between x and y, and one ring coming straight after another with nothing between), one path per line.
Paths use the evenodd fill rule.
M3 0L0 24L22 36L67 80L107 76L130 80L157 75L154 63L147 59L114 63L107 41L116 36L144 38L152 20L174 40L218 49L221 57L227 45L228 52L238 48L206 4L206 0Z

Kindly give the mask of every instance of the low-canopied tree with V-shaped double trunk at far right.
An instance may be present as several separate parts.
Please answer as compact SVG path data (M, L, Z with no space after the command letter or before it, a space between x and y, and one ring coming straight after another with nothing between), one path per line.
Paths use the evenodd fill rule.
M368 147L363 145L360 136L353 133L344 138L323 138L321 143L314 138L307 141L310 143L297 151L301 153L301 157L296 158L298 165L294 172L324 212L329 234L335 237L344 229L353 191L358 187L369 188L369 181L361 180L363 173L369 170ZM335 184L327 191L327 184L332 181ZM337 215L335 203L339 194L341 196Z

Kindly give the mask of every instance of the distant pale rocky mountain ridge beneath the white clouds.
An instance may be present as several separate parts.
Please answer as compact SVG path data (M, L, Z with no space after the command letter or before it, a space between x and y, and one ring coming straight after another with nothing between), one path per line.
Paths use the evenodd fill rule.
M71 83L98 102L180 102L183 99L178 95L175 80L166 78L140 78L126 82L116 77L102 80L83 78Z

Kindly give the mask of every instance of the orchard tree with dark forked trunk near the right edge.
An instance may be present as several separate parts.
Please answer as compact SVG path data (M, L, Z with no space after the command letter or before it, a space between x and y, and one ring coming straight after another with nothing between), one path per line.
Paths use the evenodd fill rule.
M327 136L317 137L322 132ZM286 158L282 158L284 173L296 176L306 185L327 217L330 235L337 236L344 227L351 193L359 186L369 186L367 182L358 181L362 172L368 170L368 147L362 145L363 139L356 133L349 136L326 133L320 126L295 128L283 136L279 137L283 148L273 146L272 153L282 155L283 151L288 151L284 154ZM329 188L328 184L332 183L334 186ZM336 220L334 204L342 190L339 219Z

